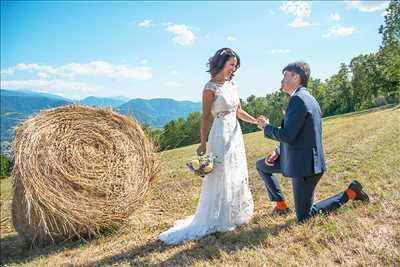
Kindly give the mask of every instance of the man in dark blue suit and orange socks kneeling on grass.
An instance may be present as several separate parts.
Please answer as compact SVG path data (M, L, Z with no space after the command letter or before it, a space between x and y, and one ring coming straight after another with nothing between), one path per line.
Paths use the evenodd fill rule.
M276 202L273 214L290 212L275 173L292 177L298 222L304 222L319 213L328 213L349 200L367 202L368 195L362 190L362 185L354 180L343 192L313 203L315 187L326 170L321 109L306 88L310 77L307 63L291 63L282 73L282 90L290 95L290 100L281 127L271 125L264 116L258 118L258 126L264 130L264 136L280 142L265 159L256 163L270 200Z

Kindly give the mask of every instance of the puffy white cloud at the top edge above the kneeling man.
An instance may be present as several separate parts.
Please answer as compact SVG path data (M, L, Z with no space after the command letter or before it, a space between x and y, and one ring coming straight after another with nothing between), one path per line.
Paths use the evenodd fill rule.
M311 5L305 1L288 1L280 6L280 9L286 14L293 15L295 18L289 24L290 27L300 28L311 25L316 25L316 23L311 23L306 21L311 14Z

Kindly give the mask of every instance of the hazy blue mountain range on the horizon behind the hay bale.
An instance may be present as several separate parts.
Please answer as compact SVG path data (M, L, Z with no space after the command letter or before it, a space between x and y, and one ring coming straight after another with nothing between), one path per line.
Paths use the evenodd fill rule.
M112 107L121 114L133 115L142 124L150 124L157 128L162 128L170 120L186 118L190 112L199 112L201 109L200 102L177 101L168 98L147 100L90 96L82 100L73 100L49 93L7 89L0 89L0 104L2 141L9 141L12 138L13 128L30 115L68 104Z

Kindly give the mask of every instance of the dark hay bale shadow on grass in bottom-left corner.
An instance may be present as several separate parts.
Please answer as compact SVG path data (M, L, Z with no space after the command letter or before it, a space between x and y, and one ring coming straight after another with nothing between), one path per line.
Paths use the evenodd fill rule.
M48 256L65 249L78 247L82 244L84 244L82 240L72 240L49 244L48 246L31 247L30 244L22 241L17 234L2 236L0 239L0 266L26 263L36 257Z

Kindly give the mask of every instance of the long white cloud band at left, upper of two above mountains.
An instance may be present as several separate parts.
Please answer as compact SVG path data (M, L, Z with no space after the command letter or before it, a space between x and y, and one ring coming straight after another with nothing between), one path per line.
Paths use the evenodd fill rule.
M42 78L44 78L45 75L47 75L47 77L57 76L62 78L74 78L75 76L101 76L129 80L149 80L152 78L152 70L150 67L133 67L127 64L114 65L106 61L92 61L86 64L70 63L59 67L22 63L2 70L1 73L12 75L17 71L36 72Z

